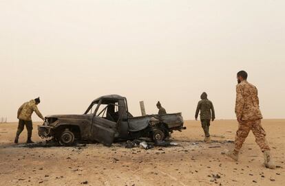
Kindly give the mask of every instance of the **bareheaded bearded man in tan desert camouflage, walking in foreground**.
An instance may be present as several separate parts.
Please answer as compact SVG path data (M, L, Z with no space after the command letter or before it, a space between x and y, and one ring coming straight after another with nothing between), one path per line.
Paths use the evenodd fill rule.
M235 114L238 121L238 129L235 135L234 150L228 151L225 154L237 161L242 144L252 130L257 145L260 146L260 149L264 153L264 165L275 169L270 148L265 138L266 132L261 126L262 113L260 111L257 89L253 84L247 82L246 79L246 71L239 71L237 73L238 84L236 87Z

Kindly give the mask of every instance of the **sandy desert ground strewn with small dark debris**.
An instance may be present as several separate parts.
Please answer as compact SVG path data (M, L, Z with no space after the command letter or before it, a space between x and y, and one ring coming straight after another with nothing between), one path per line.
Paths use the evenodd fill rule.
M174 132L179 146L127 149L116 143L75 147L36 146L13 143L17 124L0 124L0 185L284 185L285 120L263 120L264 129L279 167L263 167L263 154L252 132L240 160L220 152L233 148L237 122L218 120L211 125L215 142L203 143L199 121L185 121L187 130ZM34 123L33 140L37 136ZM218 176L216 176L218 174ZM215 175L215 176L213 176ZM220 178L219 178L220 176Z

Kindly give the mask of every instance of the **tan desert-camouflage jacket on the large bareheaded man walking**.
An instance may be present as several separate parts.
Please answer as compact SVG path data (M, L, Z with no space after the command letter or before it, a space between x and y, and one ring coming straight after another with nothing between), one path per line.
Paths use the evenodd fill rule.
M235 115L237 119L262 119L256 87L244 80L237 84L236 88Z

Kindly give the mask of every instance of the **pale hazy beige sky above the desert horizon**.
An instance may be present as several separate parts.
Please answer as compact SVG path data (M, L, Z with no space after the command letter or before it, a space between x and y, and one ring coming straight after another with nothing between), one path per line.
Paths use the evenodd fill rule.
M0 1L0 117L84 113L106 94L193 119L202 91L235 118L237 71L264 118L285 118L285 1ZM39 118L34 114L34 120Z

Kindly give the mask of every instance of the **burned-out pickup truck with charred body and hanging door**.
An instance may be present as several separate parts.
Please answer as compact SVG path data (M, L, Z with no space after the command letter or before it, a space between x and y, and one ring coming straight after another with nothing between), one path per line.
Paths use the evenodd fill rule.
M111 146L114 141L149 138L155 142L184 130L181 113L133 117L127 99L105 95L94 100L83 115L50 115L38 126L39 136L72 146L76 139Z

